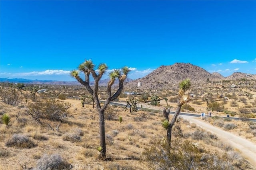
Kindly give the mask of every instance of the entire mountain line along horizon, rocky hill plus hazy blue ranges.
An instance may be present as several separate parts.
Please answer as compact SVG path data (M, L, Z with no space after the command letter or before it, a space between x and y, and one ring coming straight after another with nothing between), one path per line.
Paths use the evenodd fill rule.
M138 83L141 84L141 89L170 89L177 87L178 83L186 78L190 78L194 85L202 85L209 81L220 80L235 80L235 79L253 79L256 80L256 74L246 74L241 72L234 72L228 77L222 76L218 72L210 73L199 66L195 66L190 63L175 63L169 66L160 66L150 74L143 78L136 80L127 79L125 82L125 88L138 88ZM80 85L77 81L55 81L55 80L27 80L23 78L6 79L0 78L0 82L12 82L12 83L26 83L26 84L59 84L59 85ZM106 86L109 79L100 80L99 86ZM90 82L93 85L94 82ZM115 82L115 85L118 81Z

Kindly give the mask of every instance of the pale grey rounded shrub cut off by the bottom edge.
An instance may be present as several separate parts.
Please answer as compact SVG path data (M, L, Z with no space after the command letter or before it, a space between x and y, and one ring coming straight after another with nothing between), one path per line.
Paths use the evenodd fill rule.
M68 170L70 165L59 154L44 154L37 161L35 170Z

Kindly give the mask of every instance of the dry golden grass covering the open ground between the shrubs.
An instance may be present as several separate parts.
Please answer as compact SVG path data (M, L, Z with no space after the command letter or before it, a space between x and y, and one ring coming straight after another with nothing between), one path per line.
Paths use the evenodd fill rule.
M65 89L63 92L68 91ZM81 90L81 93L82 92L84 91ZM164 93L167 92L163 92L163 94ZM76 92L76 94L79 93ZM39 95L37 97L40 98ZM120 98L120 100L126 101L126 99L123 98ZM195 104L190 103L190 106L195 108L195 113L200 113L200 111L205 112L206 103L201 99L197 101L200 102L200 105L197 105L198 102L194 102ZM248 99L246 99L246 101L247 104L250 103ZM8 114L10 114L11 121L10 127L8 128L0 124L0 146L2 146L0 148L8 150L8 152L3 151L3 156L0 156L0 169L21 169L19 164L26 164L27 167L36 168L38 160L40 160L44 154L58 154L62 160L65 160L68 164L90 164L91 169L148 169L148 162L142 158L142 152L146 148L154 146L156 141L164 139L166 136L166 130L161 127L161 120L163 119L161 108L160 111L143 110L129 113L128 111L124 111L123 107L115 107L118 110L118 116L122 116L122 123L120 123L118 119L105 121L106 154L111 161L101 161L97 158L98 151L96 150L97 147L99 147L100 139L97 110L92 109L91 104L86 104L85 107L82 107L80 100L66 98L66 100L62 102L69 102L71 104L69 109L70 116L66 118L66 122L61 123L58 131L56 130L58 122L46 121L47 124L53 127L52 130L47 125L39 125L33 121L29 115L25 114L24 110L24 114L19 117L19 119L23 119L23 121L16 121L16 114L20 111L20 108L1 105L4 107L0 109L3 113L8 112ZM161 102L163 106L166 106L165 101ZM228 103L229 102L228 100ZM239 106L244 106L243 102L236 102ZM22 104L26 106L25 102ZM174 111L176 103L168 102L168 105L172 106L172 111ZM230 107L229 104L225 105L225 107L226 106ZM232 110L232 108L229 110ZM233 110L236 111L235 108L233 108ZM225 114L214 111L213 116L215 115ZM202 121L213 124L216 119L207 117L207 119ZM190 140L195 143L195 145L198 145L200 150L211 150L211 152L220 156L225 156L226 152L230 151L227 158L232 158L232 156L234 158L237 154L239 155L238 151L233 150L228 144L222 143L216 139L214 135L200 129L196 124L190 124L184 119L180 119L180 122L183 137L178 137L177 135L177 137L173 137L173 139L180 139L181 141ZM233 120L225 121L224 119L221 122L223 123L221 128L224 128L227 124L234 124L237 127L228 129L229 132L240 133L242 137L247 137L254 141L255 137L253 133L251 133L252 135L247 133L247 131L253 131L254 129L251 129L246 122ZM12 135L15 133L27 136L37 144L37 147L23 149L6 147L6 140L11 139ZM72 141L73 137L72 135L70 136L70 134L76 134L79 140ZM43 140L46 138L48 140ZM74 139L76 139L76 137L74 137ZM17 152L17 150L22 150L22 152ZM232 154L231 151L237 153ZM238 160L239 162L232 162L232 164L240 164L240 167L246 167L243 158L238 157ZM14 164L8 164L9 161L14 162ZM8 164L8 167L5 166L6 164Z

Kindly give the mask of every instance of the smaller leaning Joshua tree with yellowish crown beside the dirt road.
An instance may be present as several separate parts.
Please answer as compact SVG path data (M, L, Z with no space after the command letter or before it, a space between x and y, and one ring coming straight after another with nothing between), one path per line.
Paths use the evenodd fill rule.
M185 94L185 92L190 88L190 86L191 86L190 79L183 80L182 82L179 83L179 92L178 92L178 100L177 100L178 106L170 122L169 122L170 108L168 108L167 111L165 108L163 108L163 114L164 114L165 120L162 122L162 126L165 129L167 129L166 151L168 155L170 154L170 149L171 149L172 127L176 122L178 115L180 114L181 107L191 100L191 96L188 94Z

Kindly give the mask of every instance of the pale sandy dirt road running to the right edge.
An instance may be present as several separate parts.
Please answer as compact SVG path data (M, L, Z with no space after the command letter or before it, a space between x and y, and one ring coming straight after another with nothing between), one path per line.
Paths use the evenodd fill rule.
M226 132L223 129L214 127L206 122L198 120L196 117L180 115L190 123L196 123L199 127L214 133L222 142L229 144L231 147L241 151L241 155L246 158L253 166L256 167L256 145L247 139Z

